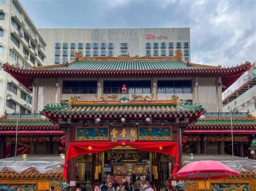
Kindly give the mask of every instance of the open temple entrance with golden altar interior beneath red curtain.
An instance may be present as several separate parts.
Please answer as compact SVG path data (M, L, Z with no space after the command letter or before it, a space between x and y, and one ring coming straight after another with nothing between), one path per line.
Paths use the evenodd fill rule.
M172 156L164 153L138 151L132 147L116 147L102 153L76 157L77 182L92 184L103 181L111 188L114 180L133 185L134 177L142 184L153 181L160 189L172 173Z

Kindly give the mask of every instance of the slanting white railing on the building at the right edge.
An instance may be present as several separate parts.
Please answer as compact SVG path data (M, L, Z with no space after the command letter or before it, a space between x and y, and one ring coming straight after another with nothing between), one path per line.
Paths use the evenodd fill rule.
M233 92L238 90L241 86L245 85L248 81L250 81L253 78L256 78L256 69L254 69L253 74L244 74L237 81L235 81L234 84L228 87L227 90L225 90L225 92L222 93L222 100L224 101L224 99L226 99L229 95L231 95Z

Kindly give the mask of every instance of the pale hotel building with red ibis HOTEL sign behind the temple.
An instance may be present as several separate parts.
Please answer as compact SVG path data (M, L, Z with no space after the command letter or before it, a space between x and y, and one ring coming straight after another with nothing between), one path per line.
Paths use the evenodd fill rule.
M181 51L190 62L190 28L39 29L46 40L45 64L82 56L173 56Z

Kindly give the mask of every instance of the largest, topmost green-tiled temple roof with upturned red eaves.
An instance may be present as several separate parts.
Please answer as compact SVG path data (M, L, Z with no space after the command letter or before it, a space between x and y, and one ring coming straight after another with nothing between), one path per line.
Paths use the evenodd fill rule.
M70 63L22 69L8 63L3 69L16 78L29 91L33 78L44 77L216 77L222 78L224 90L249 70L246 62L234 67L210 66L185 62L182 53L175 56L80 57L76 53Z

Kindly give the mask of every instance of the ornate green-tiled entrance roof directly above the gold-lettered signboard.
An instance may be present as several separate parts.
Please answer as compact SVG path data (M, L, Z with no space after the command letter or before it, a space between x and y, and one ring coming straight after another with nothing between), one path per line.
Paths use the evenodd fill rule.
M123 95L124 96L124 95ZM126 101L126 102L125 102ZM78 100L72 97L69 101L62 101L60 105L44 107L43 113L52 120L75 119L94 120L119 120L120 118L143 120L147 117L152 119L172 120L174 118L200 117L205 112L200 104L190 104L185 100L180 101L173 95L169 101L161 100Z

